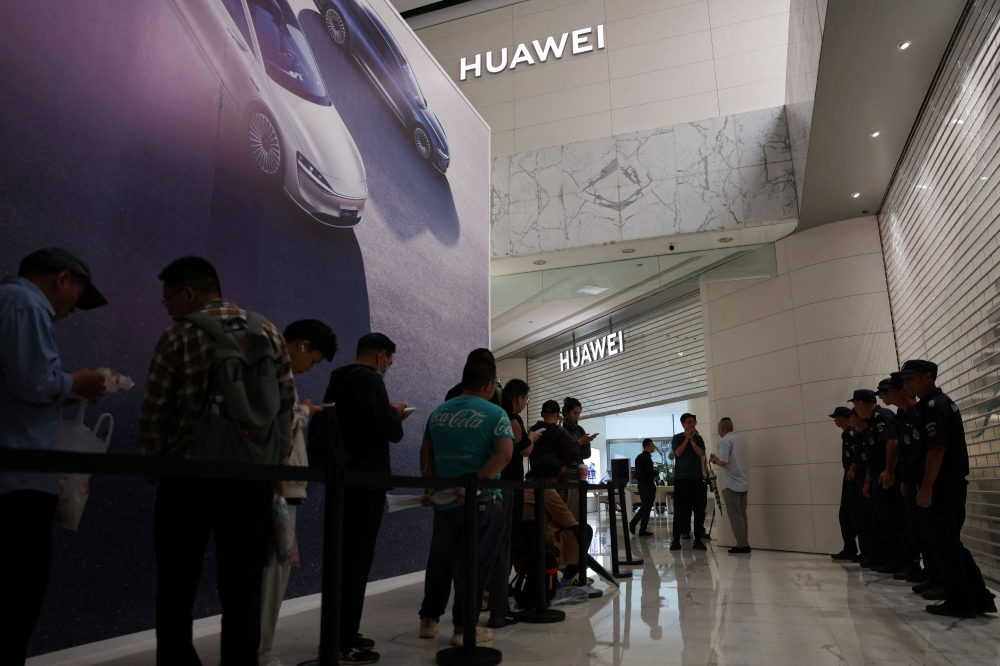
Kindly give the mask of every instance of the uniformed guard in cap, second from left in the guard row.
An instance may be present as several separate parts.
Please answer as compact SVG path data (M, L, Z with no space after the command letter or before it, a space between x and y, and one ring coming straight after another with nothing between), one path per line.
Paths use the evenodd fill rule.
M851 402L861 418L867 420L871 435L865 488L872 498L882 554L888 559L882 566L875 567L875 571L891 574L910 571L916 567L916 553L906 526L903 496L895 478L887 473L888 461L892 461L893 469L896 466L896 417L885 407L878 406L875 391L855 391Z

